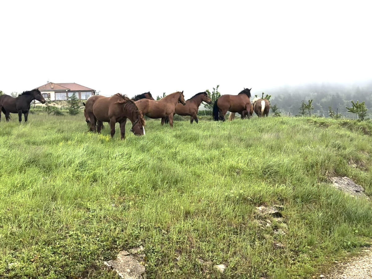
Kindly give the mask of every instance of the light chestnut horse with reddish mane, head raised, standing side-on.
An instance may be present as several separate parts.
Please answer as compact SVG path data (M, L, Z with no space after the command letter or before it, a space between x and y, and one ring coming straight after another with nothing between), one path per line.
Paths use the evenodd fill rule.
M174 92L158 101L141 99L135 102L138 109L149 118L161 118L161 125L164 125L164 117L169 117L169 125L173 127L173 115L178 103L186 105L182 92Z

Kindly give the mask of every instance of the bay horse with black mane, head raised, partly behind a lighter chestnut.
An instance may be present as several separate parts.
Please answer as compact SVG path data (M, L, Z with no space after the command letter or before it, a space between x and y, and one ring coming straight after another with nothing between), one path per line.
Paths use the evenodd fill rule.
M198 119L198 109L202 102L206 102L207 104L212 103L212 99L208 96L206 92L200 92L195 94L190 99L186 100L186 105L183 106L180 103L176 105L175 113L182 116L190 115L190 123L192 124L195 120L196 123L199 123ZM169 119L166 117L164 119L165 123L169 122Z

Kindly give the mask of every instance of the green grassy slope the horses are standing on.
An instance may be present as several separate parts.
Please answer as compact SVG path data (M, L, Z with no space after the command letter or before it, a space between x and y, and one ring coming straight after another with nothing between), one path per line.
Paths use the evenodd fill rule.
M83 115L35 113L21 125L2 117L2 277L116 278L103 261L142 244L147 278L309 278L371 243L371 203L327 182L348 176L372 196L369 123L201 119L170 129L151 120L143 137L129 129L110 140L108 127L87 132ZM285 224L260 216L263 204L283 206ZM227 268L221 275L198 259Z

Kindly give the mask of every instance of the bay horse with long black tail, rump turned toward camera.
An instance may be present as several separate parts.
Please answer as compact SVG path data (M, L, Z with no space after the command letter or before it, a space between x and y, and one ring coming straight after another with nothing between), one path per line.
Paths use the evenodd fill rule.
M242 90L237 95L222 95L219 97L213 106L214 121L225 121L225 114L230 112L242 112L243 110L251 110L251 89Z

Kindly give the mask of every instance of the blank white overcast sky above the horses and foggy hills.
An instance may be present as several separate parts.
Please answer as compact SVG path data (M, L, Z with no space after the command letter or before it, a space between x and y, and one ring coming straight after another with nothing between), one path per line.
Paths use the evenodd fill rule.
M1 1L0 90L222 94L372 77L371 1Z

